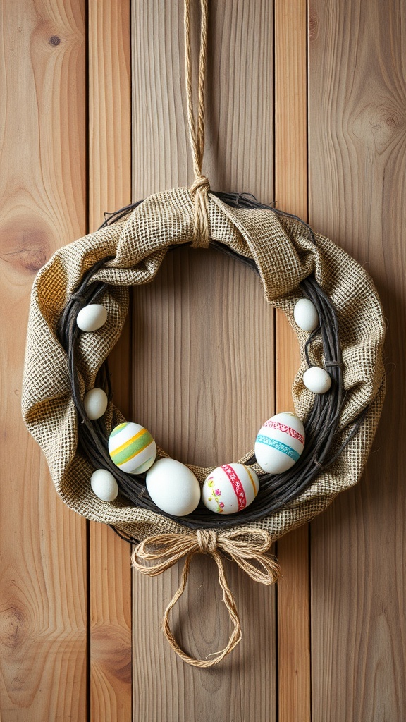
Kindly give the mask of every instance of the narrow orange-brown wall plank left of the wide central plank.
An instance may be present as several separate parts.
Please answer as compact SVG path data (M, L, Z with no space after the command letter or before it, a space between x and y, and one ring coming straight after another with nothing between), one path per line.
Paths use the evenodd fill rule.
M131 202L129 0L90 0L89 227ZM129 417L131 323L109 357L114 401ZM90 523L90 718L131 720L129 544Z

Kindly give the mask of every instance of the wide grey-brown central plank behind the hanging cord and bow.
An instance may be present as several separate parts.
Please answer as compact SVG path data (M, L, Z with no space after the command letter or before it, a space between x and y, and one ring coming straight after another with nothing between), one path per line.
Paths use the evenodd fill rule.
M204 171L212 188L264 201L273 197L272 22L267 3L210 3ZM144 197L192 180L183 4L134 0L133 71L133 188ZM135 290L133 313L134 419L180 461L220 464L251 448L275 404L273 312L254 274L214 251L178 249L150 287ZM211 670L183 664L160 632L180 569L134 575L135 720L275 720L274 592L227 571L244 638ZM211 560L194 560L173 617L196 655L222 648L228 635L216 576Z

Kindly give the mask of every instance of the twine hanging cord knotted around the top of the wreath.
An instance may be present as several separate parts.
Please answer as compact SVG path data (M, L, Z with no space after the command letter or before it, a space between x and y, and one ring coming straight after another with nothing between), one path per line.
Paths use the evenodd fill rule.
M208 0L200 0L202 12L200 27L199 52L199 84L197 123L194 116L194 103L191 82L191 42L190 42L190 4L185 0L184 27L185 27L185 59L186 59L186 93L188 105L189 137L193 155L194 183L189 192L194 199L194 229L192 248L208 248L210 243L209 227L209 179L202 173L204 154L204 77L206 73L207 58L207 20Z

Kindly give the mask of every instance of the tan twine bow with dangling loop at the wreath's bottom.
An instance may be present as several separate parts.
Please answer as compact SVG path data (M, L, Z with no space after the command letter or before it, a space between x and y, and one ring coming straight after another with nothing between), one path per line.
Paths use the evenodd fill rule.
M272 544L272 539L264 529L244 528L236 531L214 531L212 529L198 529L189 534L153 534L137 544L131 555L132 565L142 574L156 576L172 567L176 562L186 557L182 570L181 583L165 609L162 628L173 651L178 656L196 667L211 667L220 662L232 651L242 638L241 624L236 609L233 593L230 591L225 576L222 554L227 554L236 562L251 579L262 584L271 585L279 576L279 566L275 559L267 556L266 552ZM220 650L213 659L195 659L187 654L178 645L173 637L169 625L169 613L178 599L185 591L189 576L189 567L194 554L210 554L215 560L218 570L218 579L223 589L223 601L228 609L233 630L227 645ZM145 565L144 562L153 562ZM254 562L254 563L253 563ZM255 563L256 562L256 563ZM211 655L210 655L211 656Z

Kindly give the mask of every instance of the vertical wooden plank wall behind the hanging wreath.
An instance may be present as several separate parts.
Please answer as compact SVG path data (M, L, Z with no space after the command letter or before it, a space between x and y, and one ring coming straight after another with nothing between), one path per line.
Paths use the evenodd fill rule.
M2 4L2 722L403 722L405 14L402 0L210 2L204 170L215 189L308 217L368 267L388 393L358 487L278 542L277 589L227 566L243 642L200 671L159 630L178 567L131 582L129 546L62 505L20 413L35 272L131 195L191 181L183 3ZM290 407L296 365L256 277L183 249L134 292L111 369L125 414L181 461L210 464ZM228 630L213 571L193 562L174 617L202 655Z

